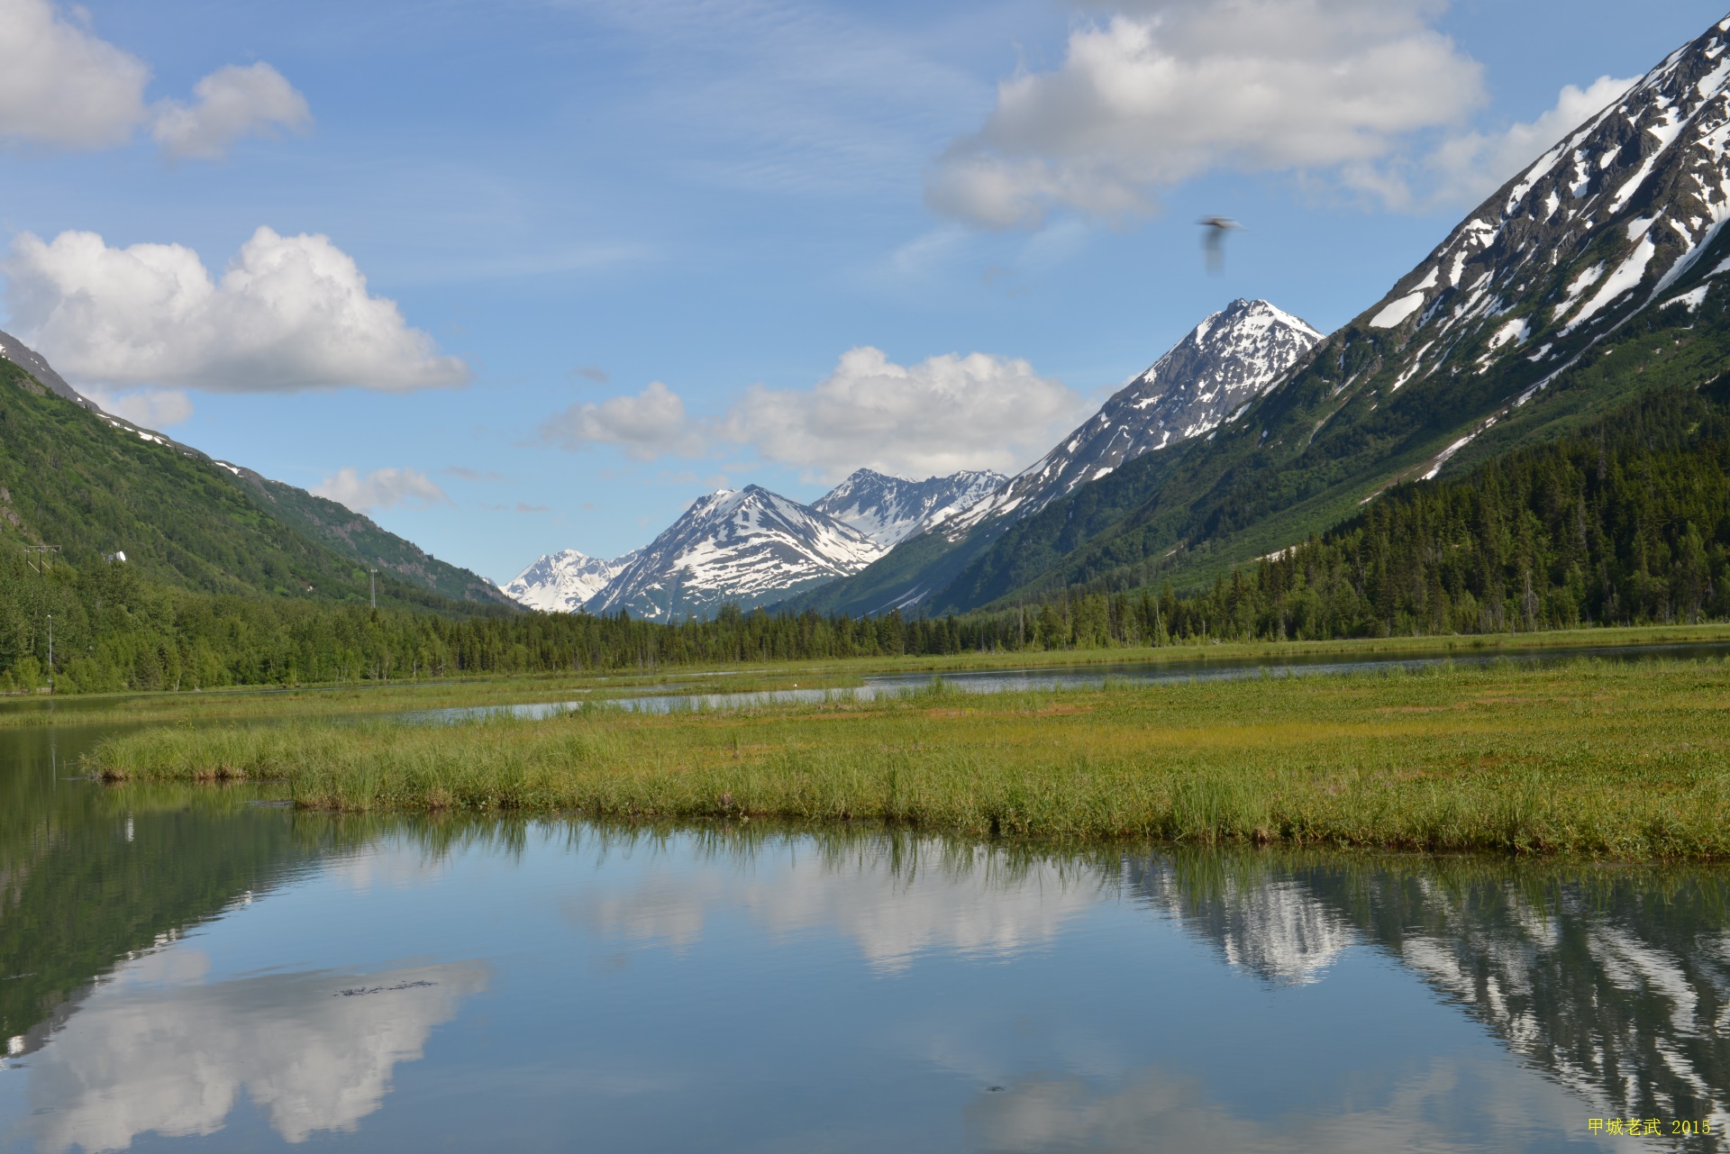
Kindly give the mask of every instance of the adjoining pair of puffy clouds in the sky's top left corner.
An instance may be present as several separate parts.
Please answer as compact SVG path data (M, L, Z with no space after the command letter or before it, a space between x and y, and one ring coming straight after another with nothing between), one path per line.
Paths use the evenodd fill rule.
M52 0L0 0L0 140L104 149L149 125L168 156L216 157L247 133L311 123L306 99L263 62L211 73L190 106L147 106L151 66L86 24Z

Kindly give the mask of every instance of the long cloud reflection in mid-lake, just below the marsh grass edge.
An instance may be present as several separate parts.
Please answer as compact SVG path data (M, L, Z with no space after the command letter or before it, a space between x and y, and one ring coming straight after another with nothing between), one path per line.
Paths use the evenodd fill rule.
M910 867L926 856L927 867ZM943 843L901 853L860 851L844 862L763 849L747 863L706 863L635 877L618 889L567 898L578 926L642 945L689 950L711 917L742 912L777 936L830 929L853 939L877 971L920 953L1009 957L1057 938L1100 900L1107 882L1052 862L1010 869L995 849L957 853Z

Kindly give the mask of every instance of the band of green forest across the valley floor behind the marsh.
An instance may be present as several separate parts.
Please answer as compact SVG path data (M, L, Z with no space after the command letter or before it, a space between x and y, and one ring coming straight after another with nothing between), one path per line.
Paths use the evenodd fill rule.
M50 666L52 616L52 666ZM215 689L685 664L1507 633L1730 618L1730 405L1664 389L1571 438L1403 484L1182 595L1069 590L952 618L497 612L213 595L125 562L0 557L0 692Z

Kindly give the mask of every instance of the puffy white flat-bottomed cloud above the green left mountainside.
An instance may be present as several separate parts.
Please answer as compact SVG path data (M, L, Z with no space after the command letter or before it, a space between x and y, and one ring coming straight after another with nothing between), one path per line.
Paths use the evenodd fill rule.
M69 379L268 393L462 384L396 303L370 296L329 237L253 234L221 279L180 244L109 247L93 232L19 234L0 263L19 336Z

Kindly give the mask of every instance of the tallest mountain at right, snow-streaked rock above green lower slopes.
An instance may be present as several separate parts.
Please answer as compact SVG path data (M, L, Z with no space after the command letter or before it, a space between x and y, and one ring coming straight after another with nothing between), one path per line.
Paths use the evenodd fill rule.
M917 590L932 614L1102 581L1194 590L1393 484L1566 436L1656 386L1716 379L1730 365L1725 48L1714 26L1666 57L1206 439L953 550L910 542L905 557L936 557L891 554L848 588Z

